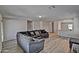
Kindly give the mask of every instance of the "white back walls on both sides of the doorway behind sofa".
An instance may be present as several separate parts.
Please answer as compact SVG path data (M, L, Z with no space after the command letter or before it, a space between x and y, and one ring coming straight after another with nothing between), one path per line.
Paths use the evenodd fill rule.
M19 31L29 30L39 30L45 29L48 32L52 32L52 22L48 21L33 21L32 26L30 26L27 20L15 20L15 19L4 19L3 28L4 28L4 41L16 39L16 33Z

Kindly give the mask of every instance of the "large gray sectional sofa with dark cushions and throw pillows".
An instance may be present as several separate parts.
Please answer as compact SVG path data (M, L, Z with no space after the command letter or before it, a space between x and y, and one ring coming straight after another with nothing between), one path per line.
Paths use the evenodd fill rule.
M17 33L17 43L27 53L37 53L44 48L44 39L49 34L45 30L33 30Z

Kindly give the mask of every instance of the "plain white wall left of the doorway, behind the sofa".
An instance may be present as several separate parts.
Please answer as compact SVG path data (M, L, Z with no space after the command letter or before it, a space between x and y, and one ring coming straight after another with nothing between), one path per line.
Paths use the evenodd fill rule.
M26 31L26 20L4 20L4 41L16 39L17 32Z

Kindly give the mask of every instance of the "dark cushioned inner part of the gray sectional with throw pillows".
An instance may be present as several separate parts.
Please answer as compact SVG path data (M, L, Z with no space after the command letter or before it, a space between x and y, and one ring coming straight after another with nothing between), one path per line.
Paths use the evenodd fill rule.
M19 33L26 36L33 37L33 38L48 38L49 37L48 32L46 32L45 30L33 30L33 31L25 31L25 32L19 32Z

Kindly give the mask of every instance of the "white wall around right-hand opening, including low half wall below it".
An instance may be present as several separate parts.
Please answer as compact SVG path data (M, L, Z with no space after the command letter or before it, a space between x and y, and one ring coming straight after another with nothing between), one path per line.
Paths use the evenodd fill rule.
M73 19L70 21L66 20L63 22L71 22L73 24L73 31L59 31L60 36L68 36L68 34L79 34L79 17L73 17Z

